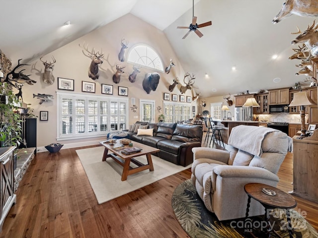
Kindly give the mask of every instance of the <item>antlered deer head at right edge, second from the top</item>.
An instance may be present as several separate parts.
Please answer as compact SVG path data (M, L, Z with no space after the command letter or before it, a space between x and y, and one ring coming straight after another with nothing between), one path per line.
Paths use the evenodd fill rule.
M308 28L303 33L299 30L297 26L298 32L294 32L291 34L300 34L292 41L292 44L305 43L308 49L311 49L313 45L318 42L318 31L317 25L315 25L315 20L312 26L308 25Z

